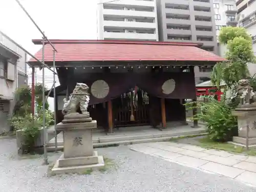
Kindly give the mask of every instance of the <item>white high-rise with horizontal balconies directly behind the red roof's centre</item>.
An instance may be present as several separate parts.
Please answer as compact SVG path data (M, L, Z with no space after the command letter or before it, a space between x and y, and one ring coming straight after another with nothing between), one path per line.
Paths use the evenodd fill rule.
M98 39L158 41L156 0L100 0Z

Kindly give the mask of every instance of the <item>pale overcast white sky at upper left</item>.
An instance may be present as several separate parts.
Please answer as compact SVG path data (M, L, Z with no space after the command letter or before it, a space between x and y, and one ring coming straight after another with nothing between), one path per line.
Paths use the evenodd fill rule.
M98 0L19 0L48 39L97 39ZM32 54L41 46L32 39L41 38L41 33L15 0L0 0L0 30ZM46 86L53 84L53 73L45 70ZM28 69L29 84L31 69ZM36 70L37 82L42 73ZM56 84L58 86L58 84ZM49 100L53 110L53 99Z

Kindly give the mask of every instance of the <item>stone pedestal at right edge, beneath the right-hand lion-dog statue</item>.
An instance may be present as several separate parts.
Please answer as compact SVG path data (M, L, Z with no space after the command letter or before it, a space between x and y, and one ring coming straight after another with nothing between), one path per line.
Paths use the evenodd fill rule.
M249 125L248 144L256 145L256 111L232 111L238 117L238 137L233 137L233 142L242 146L246 145L246 126Z

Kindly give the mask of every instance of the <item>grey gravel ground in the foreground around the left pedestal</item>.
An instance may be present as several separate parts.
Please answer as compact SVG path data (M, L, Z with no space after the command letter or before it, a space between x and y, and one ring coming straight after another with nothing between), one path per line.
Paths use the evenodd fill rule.
M104 157L114 159L117 169L91 175L47 177L48 166L42 165L42 157L20 159L15 142L0 138L0 191L3 192L256 191L239 181L134 152L127 146L97 149ZM49 154L49 161L58 156Z

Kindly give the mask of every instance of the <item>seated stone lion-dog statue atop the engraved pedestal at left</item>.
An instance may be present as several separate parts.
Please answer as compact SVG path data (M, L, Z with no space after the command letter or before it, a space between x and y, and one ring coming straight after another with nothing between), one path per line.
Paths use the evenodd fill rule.
M73 93L70 94L69 100L63 99L64 106L62 109L63 115L77 114L77 110L80 108L83 115L87 115L88 104L90 96L88 93L89 87L84 83L76 83L76 87Z

